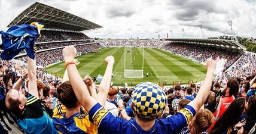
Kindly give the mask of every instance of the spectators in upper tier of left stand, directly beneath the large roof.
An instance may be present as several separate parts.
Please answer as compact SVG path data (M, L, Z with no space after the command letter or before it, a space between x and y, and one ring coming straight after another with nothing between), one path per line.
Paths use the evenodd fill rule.
M54 30L41 30L41 35L41 38L39 38L36 42L90 39L88 36L84 35L84 33L63 32Z

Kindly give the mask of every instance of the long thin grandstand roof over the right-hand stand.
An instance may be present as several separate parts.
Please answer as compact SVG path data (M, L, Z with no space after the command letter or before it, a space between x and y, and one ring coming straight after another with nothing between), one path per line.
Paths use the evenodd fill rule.
M202 44L202 45L212 45L212 46L223 46L227 48L237 48L246 50L245 46L234 40L226 39L190 39L190 38L181 38L181 39L165 39L173 43L188 43L188 44Z

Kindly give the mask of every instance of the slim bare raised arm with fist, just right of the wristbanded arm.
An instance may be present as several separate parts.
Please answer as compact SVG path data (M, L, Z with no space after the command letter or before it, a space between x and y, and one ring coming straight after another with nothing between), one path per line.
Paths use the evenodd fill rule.
M115 63L114 57L112 56L106 57L105 61L107 64L106 71L99 85L99 93L96 96L97 102L99 102L99 104L103 106L105 105L106 97L108 96L108 91L111 83L112 69Z

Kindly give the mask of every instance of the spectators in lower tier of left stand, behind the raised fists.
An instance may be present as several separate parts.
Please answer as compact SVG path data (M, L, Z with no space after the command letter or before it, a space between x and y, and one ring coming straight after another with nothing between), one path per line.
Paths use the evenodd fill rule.
M93 44L87 44L87 45L79 45L75 46L77 48L77 54L86 54L88 52L95 52L97 49L101 48L102 46L98 43ZM36 64L38 66L46 67L49 64L53 63L59 63L60 61L63 61L62 57L62 49L52 49L50 51L43 51L38 52L36 55L38 55L38 59L36 60ZM26 55L23 57L17 58L17 60L27 61Z

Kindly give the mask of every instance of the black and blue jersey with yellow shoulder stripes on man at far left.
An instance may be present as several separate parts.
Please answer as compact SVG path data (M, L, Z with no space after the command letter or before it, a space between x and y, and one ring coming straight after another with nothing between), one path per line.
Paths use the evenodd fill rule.
M41 101L29 94L25 111L18 116L18 124L26 133L33 134L57 134L53 126L53 120L42 111Z

